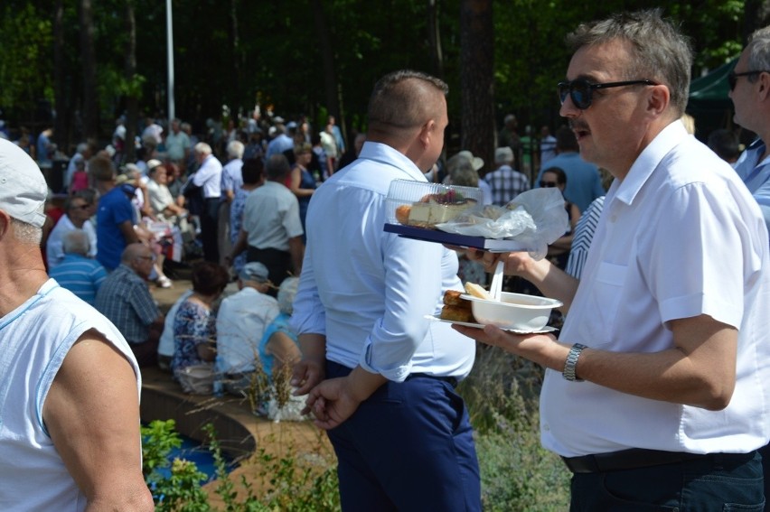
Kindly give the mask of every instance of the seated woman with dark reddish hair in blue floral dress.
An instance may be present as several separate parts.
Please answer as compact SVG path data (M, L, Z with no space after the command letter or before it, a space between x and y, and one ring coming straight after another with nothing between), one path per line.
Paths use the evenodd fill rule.
M192 294L174 317L171 369L177 380L184 368L214 360L217 316L212 306L229 281L230 274L221 265L202 262L193 266Z

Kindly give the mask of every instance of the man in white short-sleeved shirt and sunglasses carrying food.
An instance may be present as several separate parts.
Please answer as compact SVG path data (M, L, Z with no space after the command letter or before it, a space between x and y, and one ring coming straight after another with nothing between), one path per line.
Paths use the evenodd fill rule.
M455 326L546 367L540 432L571 510L761 509L770 244L728 163L690 136L692 51L659 10L568 36L561 115L615 176L577 279L502 256L567 313L559 340ZM476 255L478 256L478 255ZM484 253L487 268L495 255Z

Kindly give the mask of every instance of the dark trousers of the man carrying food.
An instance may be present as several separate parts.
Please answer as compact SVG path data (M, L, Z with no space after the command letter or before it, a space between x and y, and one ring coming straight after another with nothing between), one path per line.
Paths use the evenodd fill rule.
M763 510L760 455L708 457L635 470L575 473L570 512Z

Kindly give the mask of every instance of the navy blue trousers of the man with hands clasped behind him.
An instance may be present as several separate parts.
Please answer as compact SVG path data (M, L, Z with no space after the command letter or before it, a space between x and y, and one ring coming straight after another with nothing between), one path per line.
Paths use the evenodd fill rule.
M350 371L326 362L327 378ZM463 399L445 380L386 383L328 435L343 510L481 510L471 424Z

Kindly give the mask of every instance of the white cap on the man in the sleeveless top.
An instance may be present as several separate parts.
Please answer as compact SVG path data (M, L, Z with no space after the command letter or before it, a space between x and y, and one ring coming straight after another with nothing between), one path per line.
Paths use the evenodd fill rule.
M0 139L0 209L42 228L47 196L48 185L37 163L16 144Z

